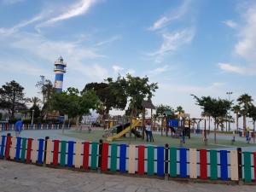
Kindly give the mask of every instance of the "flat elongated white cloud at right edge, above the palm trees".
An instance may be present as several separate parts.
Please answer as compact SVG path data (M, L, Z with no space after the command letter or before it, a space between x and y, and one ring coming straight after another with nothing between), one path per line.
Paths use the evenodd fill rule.
M227 73L237 73L241 75L255 75L256 68L255 67L239 67L235 65L231 65L230 63L218 63L218 67Z

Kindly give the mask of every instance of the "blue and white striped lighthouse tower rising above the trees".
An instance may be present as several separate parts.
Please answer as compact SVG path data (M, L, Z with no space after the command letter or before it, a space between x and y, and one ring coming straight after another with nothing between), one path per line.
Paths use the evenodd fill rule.
M60 56L57 61L55 61L55 90L57 93L61 93L63 85L63 76L66 73L67 64L64 63L63 58Z

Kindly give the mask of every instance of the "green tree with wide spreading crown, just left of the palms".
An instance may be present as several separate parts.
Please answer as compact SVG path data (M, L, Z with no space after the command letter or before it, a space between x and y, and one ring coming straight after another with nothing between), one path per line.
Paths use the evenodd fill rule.
M211 114L214 119L214 142L216 143L216 125L226 117L232 102L225 99L212 98L211 96L202 96L201 98L195 95L192 96L195 98L195 104L201 106L203 111Z

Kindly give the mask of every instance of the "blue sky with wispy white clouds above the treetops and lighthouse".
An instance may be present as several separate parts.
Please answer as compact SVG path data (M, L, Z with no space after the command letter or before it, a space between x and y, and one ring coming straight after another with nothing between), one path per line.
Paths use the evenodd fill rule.
M0 0L0 84L15 79L35 96L62 55L64 89L148 75L155 104L199 116L190 94L256 98L255 32L256 1Z

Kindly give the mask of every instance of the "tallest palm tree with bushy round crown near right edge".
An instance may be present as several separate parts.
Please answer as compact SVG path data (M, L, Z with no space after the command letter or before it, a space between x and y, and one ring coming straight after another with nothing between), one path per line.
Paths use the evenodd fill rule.
M247 129L247 114L249 112L250 106L252 106L253 98L252 98L252 96L249 96L246 93L246 94L239 96L237 99L237 102L241 107L243 130L246 131L246 129Z

